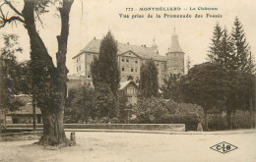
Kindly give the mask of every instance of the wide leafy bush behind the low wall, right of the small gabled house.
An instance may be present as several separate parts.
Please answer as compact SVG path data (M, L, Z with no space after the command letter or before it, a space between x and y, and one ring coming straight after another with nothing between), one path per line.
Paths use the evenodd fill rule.
M204 111L200 106L162 98L144 98L134 110L136 119L133 123L185 124L186 131L196 131L198 123L204 123Z

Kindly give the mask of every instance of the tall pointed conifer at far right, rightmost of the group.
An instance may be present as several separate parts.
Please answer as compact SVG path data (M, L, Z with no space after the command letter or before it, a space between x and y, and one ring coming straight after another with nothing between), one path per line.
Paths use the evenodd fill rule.
M255 68L255 64L250 64L252 62L249 61L251 58L249 44L246 40L243 26L239 22L237 17L235 18L233 23L231 39L235 46L233 59L235 70L249 73L251 68Z

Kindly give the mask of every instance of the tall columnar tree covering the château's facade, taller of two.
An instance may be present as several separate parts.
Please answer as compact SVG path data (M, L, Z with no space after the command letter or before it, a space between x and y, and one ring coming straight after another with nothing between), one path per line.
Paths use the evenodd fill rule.
M117 116L117 90L120 71L117 63L117 44L110 31L100 41L98 58L91 65L96 90L96 110L100 117Z

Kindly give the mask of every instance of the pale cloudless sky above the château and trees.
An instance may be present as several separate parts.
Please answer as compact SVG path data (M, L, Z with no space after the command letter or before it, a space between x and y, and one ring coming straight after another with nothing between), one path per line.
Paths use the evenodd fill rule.
M23 1L14 3L19 11L23 9ZM152 11L152 8L168 8L172 11ZM173 11L174 8L178 11ZM198 8L217 8L218 10L199 10ZM256 2L254 0L75 0L70 13L70 32L68 39L67 67L69 75L74 73L72 57L78 54L94 37L101 39L108 30L118 42L134 45L152 46L153 39L159 47L160 55L165 55L171 43L171 34L179 36L179 44L185 52L185 60L189 56L191 64L207 61L207 53L211 43L214 27L217 23L226 27L228 32L233 27L235 17L242 23L252 55L256 54ZM132 8L133 11L129 11ZM140 8L146 9L140 11ZM151 8L151 11L148 9ZM190 8L195 10L190 10ZM8 8L3 9L5 13ZM44 41L47 50L55 63L57 52L56 36L60 33L60 19L53 7L50 12L40 16L42 25L37 21L36 28ZM156 9L155 9L156 10ZM129 15L129 18L120 17ZM147 18L151 14L153 18ZM156 15L160 18L156 18ZM163 18L166 15L191 15L192 18ZM195 15L203 18L195 18ZM206 18L206 15L222 18ZM134 18L132 15L144 16ZM0 33L17 33L23 54L18 55L19 61L30 59L30 38L28 31L19 22L0 28ZM2 41L2 38L0 38ZM2 47L2 43L0 42ZM185 61L186 62L186 61Z

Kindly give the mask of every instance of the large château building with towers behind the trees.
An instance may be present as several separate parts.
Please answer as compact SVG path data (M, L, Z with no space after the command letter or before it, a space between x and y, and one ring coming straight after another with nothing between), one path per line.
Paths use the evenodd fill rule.
M74 76L82 77L85 81L92 81L91 64L94 57L98 57L100 39L94 38L73 57ZM155 60L159 71L159 84L163 84L169 74L184 74L184 52L182 51L178 35L171 35L171 43L165 56L160 55L158 45L154 43L151 47L146 45L131 45L129 43L117 42L117 58L120 69L121 81L127 81L132 76L134 81L140 80L140 68L149 59Z

